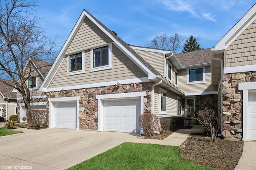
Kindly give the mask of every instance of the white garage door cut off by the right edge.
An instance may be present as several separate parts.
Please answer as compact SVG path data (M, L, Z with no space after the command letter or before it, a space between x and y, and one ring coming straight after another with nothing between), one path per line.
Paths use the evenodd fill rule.
M249 93L248 129L249 140L256 140L256 93Z

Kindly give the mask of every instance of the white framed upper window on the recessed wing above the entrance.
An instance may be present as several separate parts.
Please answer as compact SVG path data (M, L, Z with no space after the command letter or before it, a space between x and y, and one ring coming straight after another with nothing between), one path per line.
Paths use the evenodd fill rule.
M187 84L205 83L205 67L187 69Z

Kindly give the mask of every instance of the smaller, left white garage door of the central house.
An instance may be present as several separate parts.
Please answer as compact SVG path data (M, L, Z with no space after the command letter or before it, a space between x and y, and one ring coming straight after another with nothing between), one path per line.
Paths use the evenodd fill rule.
M54 108L55 127L76 129L76 102L58 103Z

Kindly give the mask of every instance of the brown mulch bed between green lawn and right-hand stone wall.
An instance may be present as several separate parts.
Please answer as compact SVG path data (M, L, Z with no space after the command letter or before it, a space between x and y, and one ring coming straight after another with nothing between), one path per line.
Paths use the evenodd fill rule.
M198 165L233 170L242 155L243 146L243 141L227 141L220 138L216 138L215 143L212 143L205 133L194 133L180 149L183 158Z

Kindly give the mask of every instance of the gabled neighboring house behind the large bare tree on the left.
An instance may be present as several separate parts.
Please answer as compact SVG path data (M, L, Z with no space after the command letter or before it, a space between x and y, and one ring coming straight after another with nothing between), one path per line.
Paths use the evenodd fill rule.
M30 90L30 106L31 109L46 109L47 98L45 92L38 92L38 88L41 86L45 76L50 70L52 64L46 61L42 61L36 58L30 58L25 65L26 70L31 70L30 77L26 80L26 84ZM23 97L20 92L17 92L17 115L20 122L22 121L22 117L27 117L26 115L26 107L23 101ZM26 122L26 121L25 121Z

